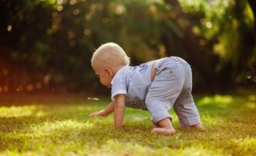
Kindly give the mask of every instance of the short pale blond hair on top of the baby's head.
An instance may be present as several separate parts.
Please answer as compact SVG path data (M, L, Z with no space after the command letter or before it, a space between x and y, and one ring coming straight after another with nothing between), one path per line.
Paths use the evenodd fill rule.
M116 43L105 43L97 48L92 55L91 62L92 67L97 62L97 66L101 68L130 64L129 57Z

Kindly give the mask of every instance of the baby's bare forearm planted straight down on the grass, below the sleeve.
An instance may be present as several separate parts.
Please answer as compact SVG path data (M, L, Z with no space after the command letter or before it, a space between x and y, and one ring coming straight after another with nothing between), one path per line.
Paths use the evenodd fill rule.
M125 94L117 94L114 98L114 128L120 128L124 122Z

